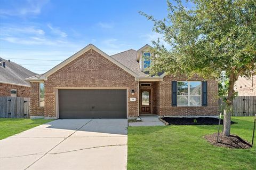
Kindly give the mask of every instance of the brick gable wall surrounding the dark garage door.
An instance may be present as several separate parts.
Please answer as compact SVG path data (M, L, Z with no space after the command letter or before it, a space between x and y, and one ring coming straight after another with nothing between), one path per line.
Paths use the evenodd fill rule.
M138 116L138 81L94 50L85 52L47 78L45 81L45 117L56 117L55 89L58 87L127 88L129 90L128 114ZM134 95L131 95L131 90L135 91ZM36 94L36 96L38 98L39 95ZM137 98L136 101L130 101L131 97Z

